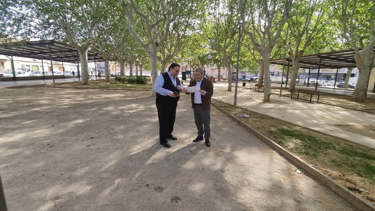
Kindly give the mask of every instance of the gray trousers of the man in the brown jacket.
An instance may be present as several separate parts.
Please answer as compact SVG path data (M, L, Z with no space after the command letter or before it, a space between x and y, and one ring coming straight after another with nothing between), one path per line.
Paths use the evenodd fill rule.
M203 109L202 105L193 105L194 120L196 128L198 129L199 137L209 139L211 136L210 130L210 108Z

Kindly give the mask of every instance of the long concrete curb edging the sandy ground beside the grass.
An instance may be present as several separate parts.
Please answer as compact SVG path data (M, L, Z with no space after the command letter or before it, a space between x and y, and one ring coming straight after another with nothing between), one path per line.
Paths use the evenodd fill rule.
M284 149L282 146L278 145L276 142L273 142L266 136L263 136L263 134L259 133L257 130L254 130L252 127L249 127L244 122L242 122L239 118L231 115L229 112L225 111L224 109L220 108L220 106L214 104L211 102L211 104L219 109L221 112L228 115L230 118L232 118L234 121L236 121L238 124L240 124L242 127L245 127L248 131L254 133L257 137L262 139L264 142L266 142L268 145L272 146L276 151L296 163L299 167L301 167L303 170L326 184L329 188L331 188L333 191L335 191L339 196L347 200L349 203L351 203L353 206L358 208L361 211L369 211L374 210L375 206L371 203L367 202L366 200L362 199L361 197L354 194L352 191L348 190L343 185L339 184L335 180L329 178L324 173L322 173L320 170L315 169L310 164L306 163L287 149Z

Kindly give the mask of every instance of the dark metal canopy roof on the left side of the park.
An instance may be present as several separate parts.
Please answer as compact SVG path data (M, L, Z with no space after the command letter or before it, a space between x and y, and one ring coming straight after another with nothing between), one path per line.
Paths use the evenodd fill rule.
M49 55L50 52L51 57ZM0 43L0 55L58 62L80 62L77 49L71 45L53 40ZM87 59L89 62L104 61L100 54L90 51L87 53Z

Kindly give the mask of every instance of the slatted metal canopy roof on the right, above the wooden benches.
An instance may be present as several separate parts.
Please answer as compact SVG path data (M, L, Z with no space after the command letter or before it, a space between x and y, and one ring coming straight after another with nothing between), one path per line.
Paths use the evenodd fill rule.
M372 50L375 51L375 47ZM299 61L299 66L300 68L305 68L305 69L355 68L357 66L356 60L354 60L355 55L356 55L356 51L354 51L354 49L306 55L306 56L301 57ZM288 65L288 63L290 65L291 62L292 62L292 59L290 57L285 58L285 65ZM284 58L273 59L270 61L270 63L274 65L284 65Z

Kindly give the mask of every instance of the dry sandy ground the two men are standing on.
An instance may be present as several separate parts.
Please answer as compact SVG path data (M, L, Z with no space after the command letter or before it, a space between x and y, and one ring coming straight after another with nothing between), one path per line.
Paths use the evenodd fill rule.
M355 210L211 109L211 148L192 143L190 96L172 148L150 92L0 90L0 173L15 210ZM177 203L178 202L178 203Z

